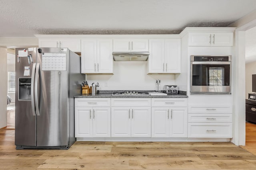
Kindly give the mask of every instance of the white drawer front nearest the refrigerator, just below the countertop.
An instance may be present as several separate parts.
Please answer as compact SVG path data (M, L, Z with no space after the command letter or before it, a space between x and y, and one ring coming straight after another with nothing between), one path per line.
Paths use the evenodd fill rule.
M110 98L75 98L75 107L110 107Z

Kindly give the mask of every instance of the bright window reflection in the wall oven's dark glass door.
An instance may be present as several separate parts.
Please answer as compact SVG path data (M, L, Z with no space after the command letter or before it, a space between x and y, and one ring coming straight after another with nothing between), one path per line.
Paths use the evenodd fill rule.
M224 86L224 67L209 68L209 85Z

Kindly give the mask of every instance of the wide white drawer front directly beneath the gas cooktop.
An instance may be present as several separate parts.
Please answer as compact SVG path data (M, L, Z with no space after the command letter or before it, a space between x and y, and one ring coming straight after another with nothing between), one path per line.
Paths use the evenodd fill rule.
M150 107L150 98L112 98L112 107Z

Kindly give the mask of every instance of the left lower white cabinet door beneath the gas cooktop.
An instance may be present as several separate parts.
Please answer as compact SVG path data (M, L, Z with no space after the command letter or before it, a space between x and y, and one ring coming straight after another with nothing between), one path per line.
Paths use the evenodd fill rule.
M130 107L111 107L111 137L131 137Z

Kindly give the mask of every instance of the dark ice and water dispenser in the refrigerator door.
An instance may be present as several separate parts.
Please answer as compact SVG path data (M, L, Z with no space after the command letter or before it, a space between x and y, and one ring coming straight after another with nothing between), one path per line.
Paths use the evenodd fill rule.
M31 100L31 78L19 78L19 100Z

